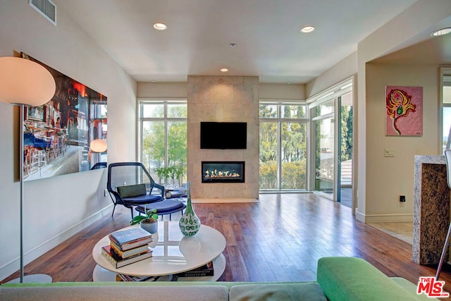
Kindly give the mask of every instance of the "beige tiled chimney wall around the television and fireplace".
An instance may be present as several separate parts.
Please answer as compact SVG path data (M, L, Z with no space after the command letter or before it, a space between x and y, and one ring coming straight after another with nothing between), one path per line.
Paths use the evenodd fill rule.
M188 76L188 180L194 199L259 197L259 78ZM200 149L200 122L246 122L247 149ZM202 183L202 161L245 161L245 183Z

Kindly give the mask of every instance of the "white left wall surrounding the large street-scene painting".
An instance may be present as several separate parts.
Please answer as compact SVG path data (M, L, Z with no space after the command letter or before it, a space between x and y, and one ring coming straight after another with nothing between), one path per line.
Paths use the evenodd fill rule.
M24 51L108 97L109 162L135 160L136 82L58 10L54 26L28 1L0 1L0 56ZM14 107L0 103L0 279L19 269L19 183L13 179ZM17 134L17 132L16 132ZM131 139L130 139L131 138ZM106 169L25 182L25 263L101 215ZM42 271L45 272L45 271Z

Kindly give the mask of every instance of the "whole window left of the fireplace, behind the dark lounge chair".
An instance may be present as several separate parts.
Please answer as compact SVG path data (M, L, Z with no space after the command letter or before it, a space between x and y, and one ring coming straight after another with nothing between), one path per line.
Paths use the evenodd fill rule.
M187 102L140 101L141 161L152 178L168 187L186 181Z

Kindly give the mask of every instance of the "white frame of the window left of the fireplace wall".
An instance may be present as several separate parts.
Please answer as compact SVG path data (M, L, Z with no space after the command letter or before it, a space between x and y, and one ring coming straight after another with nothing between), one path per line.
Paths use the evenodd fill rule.
M146 105L152 105L152 106L162 106L163 107L163 114L161 116L144 116L145 112L145 106ZM184 105L187 106L187 99L138 99L138 108L137 108L137 141L138 141L138 158L146 166L146 168L149 170L149 173L151 173L152 178L156 180L157 182L160 182L161 184L164 184L166 186L174 186L174 187L181 187L186 182L187 173L186 173L186 167L187 167L187 155L185 156L185 164L183 166L183 174L178 174L177 176L174 176L173 172L171 171L171 166L168 166L169 164L169 149L168 149L168 129L171 123L175 122L185 122L187 126L187 115L184 117L174 117L169 116L169 106L180 106ZM163 123L163 129L164 129L164 162L163 165L160 166L159 171L157 172L155 168L152 168L150 162L147 162L146 159L143 158L144 151L143 151L143 135L144 135L144 123L149 122L161 122ZM185 147L187 145L187 141L185 141ZM149 161L149 160L147 160ZM178 171L180 173L181 171ZM171 176L172 173L172 176Z

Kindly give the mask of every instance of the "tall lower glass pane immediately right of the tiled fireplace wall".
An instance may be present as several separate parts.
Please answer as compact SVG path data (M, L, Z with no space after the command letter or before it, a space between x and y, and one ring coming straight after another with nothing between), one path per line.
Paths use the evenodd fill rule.
M260 189L277 185L277 123L260 123Z

